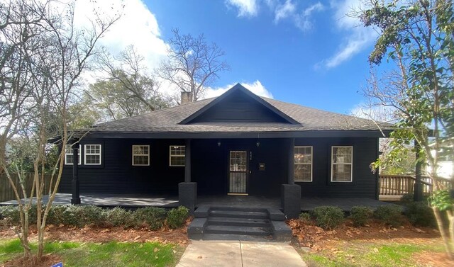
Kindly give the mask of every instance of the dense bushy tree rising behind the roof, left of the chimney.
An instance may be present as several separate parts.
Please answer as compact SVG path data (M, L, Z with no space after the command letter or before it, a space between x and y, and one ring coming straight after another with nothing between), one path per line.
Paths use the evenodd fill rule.
M148 73L145 58L133 45L116 56L104 51L98 64L107 77L92 84L87 96L108 118L116 120L169 106Z

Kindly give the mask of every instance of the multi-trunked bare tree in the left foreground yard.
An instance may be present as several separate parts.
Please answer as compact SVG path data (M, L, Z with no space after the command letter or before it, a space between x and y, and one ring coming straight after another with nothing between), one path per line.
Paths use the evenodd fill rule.
M26 192L23 183L16 187L10 169L21 176L20 154L10 154L9 159L0 158L18 201L21 227L18 237L24 248L24 256L31 256L28 244L28 210L35 196L38 228L37 259L43 256L44 232L50 207L52 206L62 175L65 144L71 139L68 129L71 123L70 106L79 86L79 76L89 67L89 59L96 54L96 42L118 19L95 15L92 28L79 29L74 26L74 3L65 11L57 10L52 1L10 1L2 6L1 16L9 23L2 24L1 38L4 47L13 47L11 52L1 54L1 101L10 103L2 106L2 149L13 137L24 137L33 157L33 188ZM64 16L62 15L64 14ZM13 14L14 16L12 16ZM36 19L35 19L36 18ZM36 21L29 23L29 21ZM19 41L16 41L19 40ZM2 50L6 51L6 50ZM11 125L11 126L9 126ZM45 166L48 161L50 137L59 136L62 145L57 162L52 166L50 184L52 188L48 202L43 206ZM23 178L21 178L21 181ZM18 191L28 198L22 203Z

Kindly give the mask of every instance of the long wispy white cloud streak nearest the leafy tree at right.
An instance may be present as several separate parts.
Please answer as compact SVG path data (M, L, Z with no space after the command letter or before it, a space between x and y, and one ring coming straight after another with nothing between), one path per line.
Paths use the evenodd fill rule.
M331 7L336 9L336 14L333 18L336 22L336 27L347 34L333 56L316 64L316 67L323 65L327 69L337 67L358 54L365 47L372 44L378 36L377 32L372 28L365 28L359 18L351 16L353 12L364 8L361 5L361 0L333 1Z

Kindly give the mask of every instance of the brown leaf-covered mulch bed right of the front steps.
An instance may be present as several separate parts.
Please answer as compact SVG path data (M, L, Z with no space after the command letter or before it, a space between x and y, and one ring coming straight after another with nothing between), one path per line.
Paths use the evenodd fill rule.
M323 244L330 240L377 240L377 239L438 239L438 230L428 227L414 227L404 225L392 228L380 222L373 221L365 227L353 227L347 220L343 225L333 230L323 230L315 225L308 225L301 220L289 220L287 224L292 228L293 236L300 246L321 250Z

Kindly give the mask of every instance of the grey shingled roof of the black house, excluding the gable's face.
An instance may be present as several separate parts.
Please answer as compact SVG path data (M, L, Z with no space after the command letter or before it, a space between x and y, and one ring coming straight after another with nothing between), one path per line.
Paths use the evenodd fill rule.
M204 114L210 108L222 103L223 99L235 92L247 93L253 101L271 110L284 122L248 122L237 121L211 121L194 122L195 118ZM287 132L285 137L292 133L320 132L320 131L362 131L375 132L374 136L387 134L393 125L388 123L376 123L372 120L357 118L350 115L332 113L315 108L307 108L292 103L285 103L270 98L256 96L252 92L237 84L232 89L217 98L209 98L193 103L187 103L172 108L155 110L151 113L138 115L132 118L114 120L95 125L90 134L104 133L99 135L108 136L109 133L265 133ZM151 136L151 135L147 135ZM170 136L170 135L169 135ZM176 135L172 135L176 136ZM301 136L300 134L298 136ZM184 135L181 135L184 138ZM284 136L283 136L284 137Z

